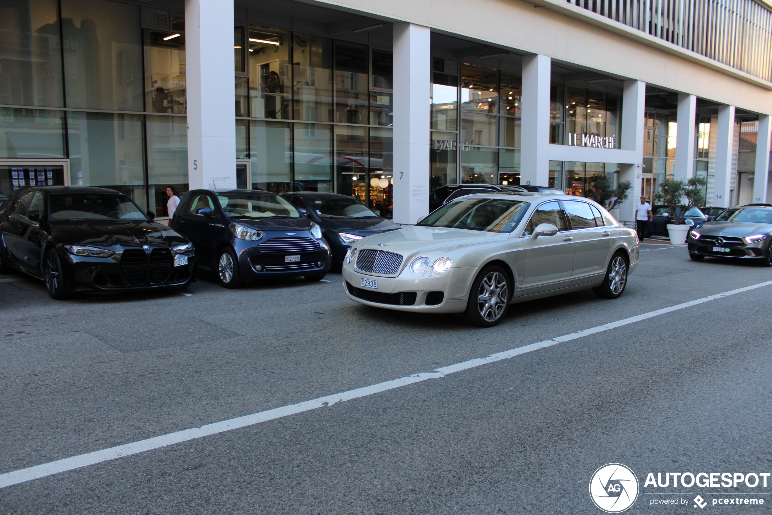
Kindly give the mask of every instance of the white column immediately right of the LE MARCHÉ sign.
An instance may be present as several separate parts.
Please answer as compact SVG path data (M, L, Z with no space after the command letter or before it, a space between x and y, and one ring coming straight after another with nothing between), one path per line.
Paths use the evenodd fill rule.
M643 130L645 126L646 83L625 80L622 96L622 134L620 146L635 152L635 163L622 164L620 181L630 181L632 189L628 199L619 205L619 220L635 222L635 204L641 196L641 171L643 170Z

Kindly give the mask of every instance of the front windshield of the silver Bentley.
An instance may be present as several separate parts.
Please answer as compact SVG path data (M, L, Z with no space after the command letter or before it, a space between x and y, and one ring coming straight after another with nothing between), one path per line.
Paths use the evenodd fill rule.
M507 198L461 198L436 209L415 225L512 232L529 205L530 202Z

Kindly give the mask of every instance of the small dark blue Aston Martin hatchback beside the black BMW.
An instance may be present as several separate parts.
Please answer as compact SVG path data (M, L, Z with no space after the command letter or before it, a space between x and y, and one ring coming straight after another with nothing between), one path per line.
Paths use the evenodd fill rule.
M188 191L171 227L193 242L198 266L226 288L260 278L318 281L330 269L320 226L269 191Z

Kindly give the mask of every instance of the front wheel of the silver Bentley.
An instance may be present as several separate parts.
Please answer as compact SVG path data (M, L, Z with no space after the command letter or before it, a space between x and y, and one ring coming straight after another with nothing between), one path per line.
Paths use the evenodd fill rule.
M477 274L466 304L466 318L479 327L493 327L510 305L510 276L496 265L486 266Z

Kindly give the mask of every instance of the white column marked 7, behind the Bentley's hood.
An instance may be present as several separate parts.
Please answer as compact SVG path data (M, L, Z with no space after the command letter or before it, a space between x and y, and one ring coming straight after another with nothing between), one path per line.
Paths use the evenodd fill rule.
M432 31L394 23L394 222L429 212Z

